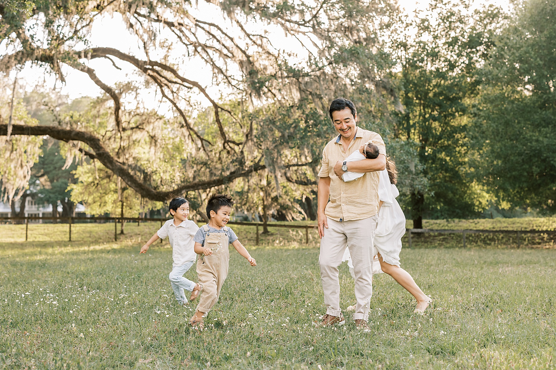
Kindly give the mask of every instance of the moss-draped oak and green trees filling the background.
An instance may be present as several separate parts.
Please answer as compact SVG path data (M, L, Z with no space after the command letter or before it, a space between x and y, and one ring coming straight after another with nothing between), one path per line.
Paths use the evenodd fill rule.
M33 63L64 79L63 65L105 95L70 102L16 89L11 104L13 78L4 77L4 200L137 216L185 195L203 216L207 194L226 191L265 222L314 219L321 150L334 135L326 107L342 96L358 105L360 126L385 138L414 227L487 209L554 212L554 2L503 11L433 1L408 16L383 1L222 1L222 23L193 17L195 5L181 2L6 4L4 72ZM141 40L142 57L89 42L95 17L113 12ZM274 48L264 31L275 26L307 50L302 62ZM193 80L176 57L183 53L209 65L228 93L213 97ZM107 85L94 59L129 63L141 80ZM171 114L131 99L147 88Z

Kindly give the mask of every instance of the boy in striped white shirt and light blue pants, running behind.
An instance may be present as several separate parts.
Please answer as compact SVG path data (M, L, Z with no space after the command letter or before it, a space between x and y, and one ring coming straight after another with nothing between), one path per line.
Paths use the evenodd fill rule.
M185 305L187 298L183 290L191 292L190 300L195 299L201 291L200 284L183 277L183 274L193 266L197 259L197 254L193 250L195 244L193 236L195 236L199 227L195 222L187 219L189 216L189 202L187 199L176 197L170 201L169 207L173 219L162 225L156 234L143 245L140 253L146 253L148 247L158 239L166 239L166 237L170 239L173 264L172 272L170 272L168 278L170 278L176 300L180 305Z

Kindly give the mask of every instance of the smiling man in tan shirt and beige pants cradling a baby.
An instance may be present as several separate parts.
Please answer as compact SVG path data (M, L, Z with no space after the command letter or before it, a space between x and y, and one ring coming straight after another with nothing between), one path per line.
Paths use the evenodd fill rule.
M338 136L322 150L319 172L319 263L326 305L326 315L319 325L342 325L345 322L340 309L338 266L346 246L349 246L355 273L353 318L358 329L369 331L373 238L379 210L379 174L376 171L386 168L386 148L379 134L356 125L357 111L351 100L335 99L330 104L329 114ZM346 163L345 158L369 140L378 146L378 158ZM344 183L342 174L346 171L364 175Z

